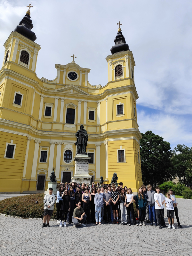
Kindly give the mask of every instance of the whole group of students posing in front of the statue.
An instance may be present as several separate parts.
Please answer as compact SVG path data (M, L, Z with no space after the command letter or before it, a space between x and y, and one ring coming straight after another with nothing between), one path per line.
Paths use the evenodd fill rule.
M105 185L105 184L104 184ZM59 227L67 227L67 223L73 222L74 227L77 225L85 226L95 223L101 225L104 220L105 224L122 224L131 225L131 220L136 226L145 226L146 222L159 228L167 227L164 221L164 203L167 210L168 228L175 229L174 212L178 222L178 227L182 228L179 222L177 201L172 193L172 189L166 193L167 197L160 193L160 188L156 187L156 192L152 190L149 184L147 187L142 185L136 196L133 195L132 189L123 187L123 182L119 183L116 188L115 184L105 187L93 187L90 191L85 184L81 188L77 187L74 182L70 184L68 189L61 184L57 192L57 223ZM55 195L52 194L52 188L49 188L49 194L44 196L44 223L43 227L50 227L49 220L51 218ZM133 202L136 205L138 218L135 217ZM137 223L139 220L139 224ZM47 221L47 224L46 224Z

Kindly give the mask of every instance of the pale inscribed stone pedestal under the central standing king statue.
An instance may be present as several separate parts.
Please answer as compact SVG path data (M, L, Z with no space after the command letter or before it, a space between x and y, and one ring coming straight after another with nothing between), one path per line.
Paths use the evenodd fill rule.
M90 183L91 176L89 175L89 157L88 155L77 154L73 160L75 161L75 174L72 181L76 183Z

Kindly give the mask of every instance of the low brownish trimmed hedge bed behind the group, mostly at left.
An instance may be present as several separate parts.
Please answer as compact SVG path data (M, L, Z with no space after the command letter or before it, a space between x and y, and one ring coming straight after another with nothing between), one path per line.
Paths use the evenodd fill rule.
M56 197L57 198L57 197ZM43 218L44 194L33 194L27 196L16 196L0 201L0 213L25 218ZM38 201L38 204L35 202ZM136 206L133 203L134 214L137 217ZM56 204L54 204L52 219L56 218Z

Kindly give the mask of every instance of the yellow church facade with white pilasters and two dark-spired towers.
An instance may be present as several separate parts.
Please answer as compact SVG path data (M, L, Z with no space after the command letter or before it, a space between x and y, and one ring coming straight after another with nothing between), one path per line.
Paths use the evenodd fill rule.
M88 132L91 181L99 182L102 176L108 184L116 172L118 182L137 192L142 177L135 62L121 29L106 58L108 83L101 87L89 83L90 69L74 58L55 65L55 79L38 78L41 47L34 42L32 27L28 11L4 44L0 193L46 190L53 167L58 183L72 181L75 133L81 124Z

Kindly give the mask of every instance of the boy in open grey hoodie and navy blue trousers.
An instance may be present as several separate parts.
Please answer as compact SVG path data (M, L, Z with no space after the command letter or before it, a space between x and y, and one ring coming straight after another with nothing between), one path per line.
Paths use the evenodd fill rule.
M152 190L152 186L149 184L147 185L147 200L148 200L148 207L149 207L149 220L150 220L150 226L153 226L153 219L155 221L155 227L157 227L157 219L156 219L156 212L155 212L155 200L154 195L155 191Z

